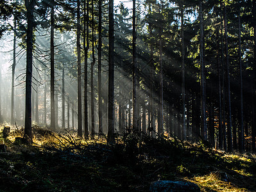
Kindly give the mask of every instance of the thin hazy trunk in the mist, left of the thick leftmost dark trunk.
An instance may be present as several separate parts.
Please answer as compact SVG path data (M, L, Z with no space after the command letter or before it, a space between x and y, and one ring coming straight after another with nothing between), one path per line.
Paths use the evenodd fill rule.
M14 16L13 27L13 64L12 64L12 106L11 106L11 124L14 124L14 74L16 67L16 17Z

